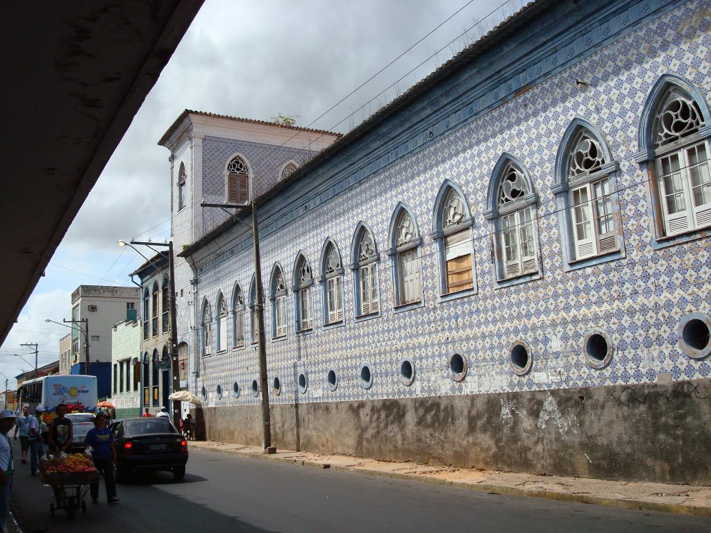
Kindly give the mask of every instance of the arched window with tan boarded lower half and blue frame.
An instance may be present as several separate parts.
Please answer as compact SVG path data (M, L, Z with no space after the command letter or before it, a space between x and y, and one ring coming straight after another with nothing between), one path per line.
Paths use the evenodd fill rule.
M464 192L456 183L444 180L432 210L432 233L437 245L439 299L476 294L474 219Z

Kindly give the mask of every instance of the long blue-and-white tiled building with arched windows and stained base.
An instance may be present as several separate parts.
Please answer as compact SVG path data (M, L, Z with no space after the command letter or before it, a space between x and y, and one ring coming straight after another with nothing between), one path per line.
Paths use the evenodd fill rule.
M161 144L208 436L261 434L250 218L199 208L238 157L277 446L709 480L709 22L538 1L314 158L204 136L196 166L183 116Z

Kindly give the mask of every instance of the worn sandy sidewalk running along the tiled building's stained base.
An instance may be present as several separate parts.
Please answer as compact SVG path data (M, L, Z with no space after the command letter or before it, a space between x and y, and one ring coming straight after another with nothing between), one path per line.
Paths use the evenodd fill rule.
M385 463L373 459L321 456L316 453L279 449L273 455L264 455L261 446L213 441L190 441L188 446L264 461L282 461L313 468L331 468L343 472L379 475L385 478L434 483L456 488L545 497L550 500L594 505L610 505L625 509L711 516L711 487L561 478L555 475L503 473L418 463Z

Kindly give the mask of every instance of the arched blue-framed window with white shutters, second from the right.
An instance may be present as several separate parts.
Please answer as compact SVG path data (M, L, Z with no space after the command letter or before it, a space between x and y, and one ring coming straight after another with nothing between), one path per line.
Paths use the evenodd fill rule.
M619 163L600 131L575 118L555 158L555 195L566 271L624 257Z

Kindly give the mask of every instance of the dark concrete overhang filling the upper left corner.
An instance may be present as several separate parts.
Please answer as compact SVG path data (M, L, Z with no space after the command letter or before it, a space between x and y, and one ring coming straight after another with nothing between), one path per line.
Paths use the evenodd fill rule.
M0 343L202 4L4 4Z

